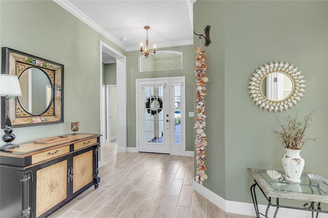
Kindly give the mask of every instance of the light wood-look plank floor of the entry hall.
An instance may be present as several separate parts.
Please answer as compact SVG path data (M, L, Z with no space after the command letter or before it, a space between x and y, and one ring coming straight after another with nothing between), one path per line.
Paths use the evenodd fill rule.
M193 157L102 146L99 188L90 187L49 217L251 217L225 213L193 190Z

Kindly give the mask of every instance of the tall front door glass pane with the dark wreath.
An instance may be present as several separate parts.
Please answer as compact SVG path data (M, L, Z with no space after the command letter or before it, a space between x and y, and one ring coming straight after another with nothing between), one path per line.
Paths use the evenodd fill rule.
M163 86L145 87L145 142L163 143Z

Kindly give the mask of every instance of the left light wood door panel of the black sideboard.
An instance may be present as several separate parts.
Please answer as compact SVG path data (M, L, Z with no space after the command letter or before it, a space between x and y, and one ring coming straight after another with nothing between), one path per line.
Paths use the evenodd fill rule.
M67 198L67 160L36 171L36 217Z

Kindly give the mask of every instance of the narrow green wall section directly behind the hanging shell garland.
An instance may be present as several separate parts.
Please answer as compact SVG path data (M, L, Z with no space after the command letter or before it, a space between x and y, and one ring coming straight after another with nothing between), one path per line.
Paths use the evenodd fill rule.
M226 156L224 146L224 124L226 121L224 107L224 93L226 84L224 82L224 4L219 1L207 3L196 1L194 3L194 30L197 34L203 33L207 25L211 26L211 44L205 47L205 39L200 39L194 35L194 45L201 46L206 51L207 70L209 78L206 92L206 168L208 179L203 181L203 186L217 193L222 198L226 198ZM206 16L203 16L206 14ZM231 110L231 108L228 108Z

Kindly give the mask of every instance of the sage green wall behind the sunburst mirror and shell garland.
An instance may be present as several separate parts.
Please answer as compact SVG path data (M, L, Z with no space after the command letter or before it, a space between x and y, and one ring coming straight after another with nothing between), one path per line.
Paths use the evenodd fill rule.
M247 168L282 170L284 147L272 133L276 118L308 115L313 123L303 147L304 172L328 178L328 2L201 1L194 3L194 30L211 25L207 51L207 174L203 186L229 201L252 202ZM206 14L206 16L204 16ZM202 42L204 43L204 42ZM199 40L194 37L195 46ZM263 111L248 82L264 63L288 61L306 80L301 102L282 113ZM264 202L261 202L264 203Z

